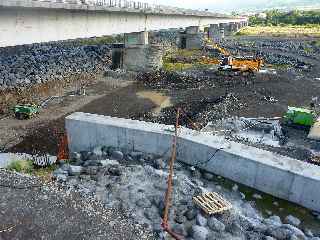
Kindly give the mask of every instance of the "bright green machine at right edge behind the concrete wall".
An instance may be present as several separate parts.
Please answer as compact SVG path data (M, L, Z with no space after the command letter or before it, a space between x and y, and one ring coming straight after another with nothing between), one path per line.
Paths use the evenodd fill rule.
M288 125L311 127L315 123L316 114L309 109L288 107L288 111L284 115L284 120Z

